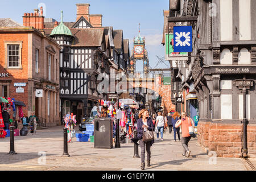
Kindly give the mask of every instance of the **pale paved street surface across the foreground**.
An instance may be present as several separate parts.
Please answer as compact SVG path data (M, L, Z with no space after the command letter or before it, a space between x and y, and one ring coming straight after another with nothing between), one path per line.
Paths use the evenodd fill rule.
M76 128L77 132L78 128ZM0 171L141 171L141 159L133 158L134 144L121 143L121 148L94 148L93 142L68 143L69 157L63 154L63 126L38 130L35 135L15 138L15 152L10 155L10 137L0 138ZM145 171L247 171L240 158L208 156L197 143L189 142L191 156L182 156L181 142L174 142L173 133L164 133L164 140L151 147L151 167ZM139 155L141 148L139 147ZM256 158L250 159L256 166Z

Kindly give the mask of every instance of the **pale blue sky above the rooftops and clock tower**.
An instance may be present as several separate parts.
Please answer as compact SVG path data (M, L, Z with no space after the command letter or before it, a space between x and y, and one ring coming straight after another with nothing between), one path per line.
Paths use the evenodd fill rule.
M64 22L75 22L76 3L89 3L90 14L102 14L102 26L113 26L114 30L123 30L123 39L130 40L130 51L133 38L138 35L141 23L141 36L146 39L146 49L150 67L155 68L158 58L164 57L163 10L168 10L168 0L0 0L0 18L11 18L22 24L24 13L34 13L34 9L44 7L45 18L60 22L60 11L63 10ZM15 5L15 6L14 6ZM168 68L168 61L156 68ZM137 71L143 71L142 61L137 63Z

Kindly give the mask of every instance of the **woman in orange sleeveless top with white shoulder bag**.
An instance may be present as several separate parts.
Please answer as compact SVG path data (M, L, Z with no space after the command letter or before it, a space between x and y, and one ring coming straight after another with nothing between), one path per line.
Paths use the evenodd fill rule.
M188 148L188 142L191 139L191 135L189 135L189 126L195 127L193 120L189 117L187 117L187 114L185 112L181 113L181 119L176 122L175 127L179 127L181 125L181 131L182 131L182 138L181 138L181 144L183 146L183 156L189 157L191 151Z

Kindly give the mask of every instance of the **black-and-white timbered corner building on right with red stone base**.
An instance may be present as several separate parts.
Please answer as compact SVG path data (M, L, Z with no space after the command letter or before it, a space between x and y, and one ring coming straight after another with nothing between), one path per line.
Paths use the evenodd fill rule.
M193 51L178 73L183 110L198 109L199 143L217 156L256 154L254 7L253 0L170 1L168 22L193 31Z

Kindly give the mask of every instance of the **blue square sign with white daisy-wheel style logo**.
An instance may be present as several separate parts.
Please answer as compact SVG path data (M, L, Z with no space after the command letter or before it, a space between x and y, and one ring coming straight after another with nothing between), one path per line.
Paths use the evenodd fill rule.
M192 52L192 26L174 27L174 52Z

